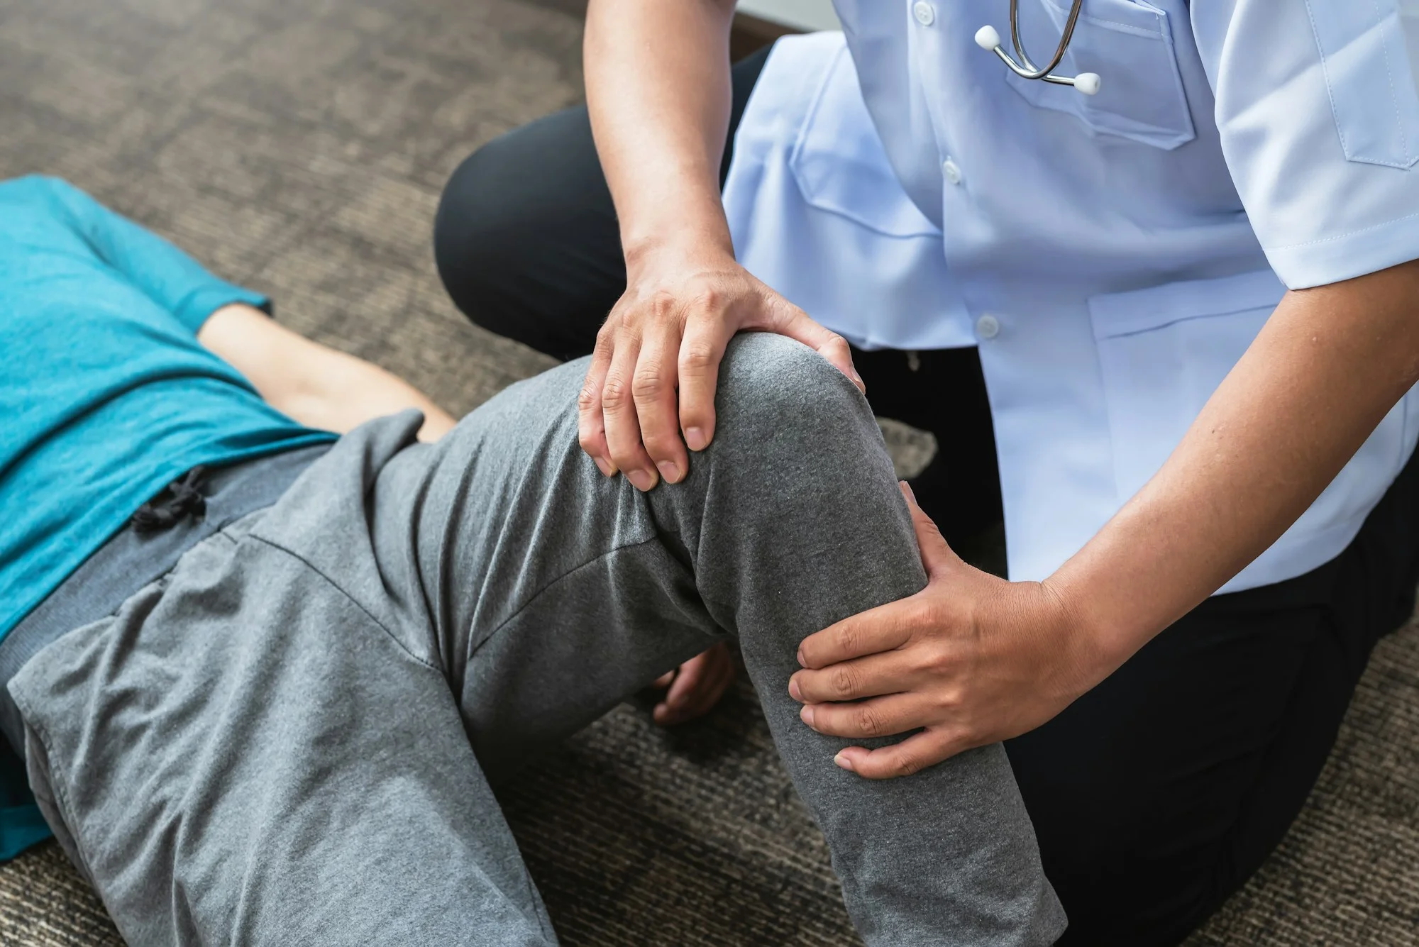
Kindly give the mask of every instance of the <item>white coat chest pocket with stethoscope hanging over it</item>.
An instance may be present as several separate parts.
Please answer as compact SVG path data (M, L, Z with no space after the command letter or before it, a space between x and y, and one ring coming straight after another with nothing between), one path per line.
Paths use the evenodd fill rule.
M1069 0L1020 0L1020 37L1036 65L1053 58ZM1010 48L1006 40L1006 48ZM1196 138L1168 14L1141 0L1086 0L1064 60L1056 74L1097 72L1098 95L1067 85L1022 79L1006 82L1030 103L1066 112L1090 130L1172 150Z

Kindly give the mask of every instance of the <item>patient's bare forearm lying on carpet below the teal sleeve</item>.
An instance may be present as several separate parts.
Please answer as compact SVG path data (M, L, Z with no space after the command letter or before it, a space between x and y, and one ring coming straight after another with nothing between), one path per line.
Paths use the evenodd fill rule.
M209 316L197 340L244 374L271 407L301 424L345 432L404 408L424 413L421 441L437 441L453 417L407 381L291 332L251 306Z

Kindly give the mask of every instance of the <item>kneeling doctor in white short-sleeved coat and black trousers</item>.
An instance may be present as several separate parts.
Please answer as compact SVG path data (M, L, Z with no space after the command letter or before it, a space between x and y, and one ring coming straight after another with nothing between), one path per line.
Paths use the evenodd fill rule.
M729 0L592 0L587 109L474 153L436 250L474 320L595 350L582 445L641 489L742 330L935 432L920 509L954 544L1003 512L1010 581L918 516L929 585L803 642L805 726L866 778L1010 740L1066 941L1174 944L1413 605L1419 23L1083 0L1081 91L978 44L1032 72L1009 6L837 0L731 71ZM1036 64L1070 18L1019 0Z

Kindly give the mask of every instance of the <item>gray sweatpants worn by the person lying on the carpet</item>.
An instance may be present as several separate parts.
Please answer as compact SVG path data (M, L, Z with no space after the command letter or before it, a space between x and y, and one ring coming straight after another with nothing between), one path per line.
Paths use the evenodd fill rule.
M721 637L868 944L1064 927L1005 751L867 781L797 719L797 642L918 591L866 401L742 336L714 444L639 493L576 444L585 363L438 444L370 422L11 682L30 778L133 944L555 944L488 788Z

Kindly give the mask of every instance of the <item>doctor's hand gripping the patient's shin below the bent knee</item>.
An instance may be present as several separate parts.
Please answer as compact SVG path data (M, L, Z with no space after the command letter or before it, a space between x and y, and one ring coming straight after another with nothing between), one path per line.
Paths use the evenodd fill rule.
M805 638L803 669L789 679L803 723L819 733L877 740L917 730L834 757L873 780L1033 730L1117 666L1050 587L968 566L905 483L902 493L927 587Z

